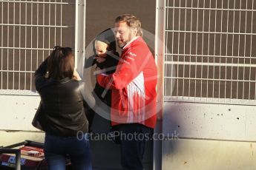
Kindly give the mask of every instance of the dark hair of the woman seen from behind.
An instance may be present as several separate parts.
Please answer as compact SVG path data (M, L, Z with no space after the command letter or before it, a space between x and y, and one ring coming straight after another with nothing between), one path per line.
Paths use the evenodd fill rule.
M50 53L47 68L49 78L56 80L73 78L74 61L72 49L70 47L54 47L53 52Z

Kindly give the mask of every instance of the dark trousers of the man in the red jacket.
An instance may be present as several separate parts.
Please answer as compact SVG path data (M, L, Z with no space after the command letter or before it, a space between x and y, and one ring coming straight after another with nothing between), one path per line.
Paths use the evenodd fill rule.
M140 123L127 123L116 126L115 131L119 132L122 168L142 170L145 142L151 139L152 129Z

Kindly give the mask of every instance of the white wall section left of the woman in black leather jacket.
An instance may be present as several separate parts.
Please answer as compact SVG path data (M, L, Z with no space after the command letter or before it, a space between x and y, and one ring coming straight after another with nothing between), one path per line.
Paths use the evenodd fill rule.
M45 134L31 125L40 101L31 94L0 95L0 146L24 140L44 142Z

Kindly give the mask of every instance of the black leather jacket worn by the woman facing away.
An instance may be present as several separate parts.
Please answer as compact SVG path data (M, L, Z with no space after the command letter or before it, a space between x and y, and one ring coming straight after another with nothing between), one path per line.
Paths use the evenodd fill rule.
M79 81L64 78L47 79L47 59L35 72L36 90L42 100L44 114L39 122L45 132L61 137L74 137L77 132L88 132L84 100L79 91ZM81 134L80 134L81 135Z

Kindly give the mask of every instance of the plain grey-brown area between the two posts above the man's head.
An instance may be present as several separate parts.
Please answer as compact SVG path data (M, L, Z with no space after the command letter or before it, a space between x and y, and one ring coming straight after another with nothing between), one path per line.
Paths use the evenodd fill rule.
M142 29L154 34L156 1L93 0L86 2L86 46L98 33L114 27L117 16L131 13L142 22Z

